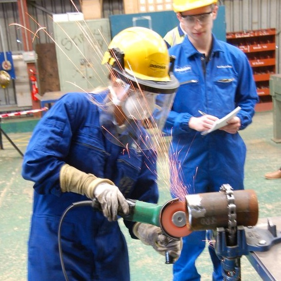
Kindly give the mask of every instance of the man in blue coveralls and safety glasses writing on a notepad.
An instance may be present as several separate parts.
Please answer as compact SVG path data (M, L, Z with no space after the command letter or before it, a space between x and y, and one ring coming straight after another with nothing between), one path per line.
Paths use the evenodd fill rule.
M171 170L171 194L181 198L183 194L218 192L225 183L233 190L243 190L246 147L238 131L252 122L258 101L248 58L214 35L217 0L173 0L173 10L185 35L169 48L175 57L173 73L180 82L164 126L164 132L171 135L170 157L178 163ZM226 126L206 134L217 120L239 107ZM173 182L174 171L178 171L180 184ZM181 186L185 186L184 192ZM204 220L203 210L198 215ZM200 280L196 262L208 234L195 231L183 237L173 281ZM212 242L208 250L214 269L208 279L227 279Z

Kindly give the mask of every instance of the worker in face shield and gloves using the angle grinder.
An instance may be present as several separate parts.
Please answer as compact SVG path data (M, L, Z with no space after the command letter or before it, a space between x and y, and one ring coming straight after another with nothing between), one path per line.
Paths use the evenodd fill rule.
M108 87L66 93L34 129L22 168L23 177L34 182L28 280L130 280L117 213L128 214L125 198L158 200L159 140L152 133L161 135L157 125L165 123L179 86L170 60L155 31L120 31L103 57ZM101 211L82 203L60 223L73 202L78 207L94 198ZM133 239L179 257L181 240L167 237L160 227L124 223Z

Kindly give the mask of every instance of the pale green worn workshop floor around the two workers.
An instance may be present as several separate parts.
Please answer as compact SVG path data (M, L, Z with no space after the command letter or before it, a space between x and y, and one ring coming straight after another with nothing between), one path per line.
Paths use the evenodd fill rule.
M245 165L245 188L254 189L259 201L259 218L280 216L281 179L266 180L266 172L281 165L281 143L273 137L273 113L256 113L253 124L241 132L248 147ZM30 138L30 128L24 120L3 120L2 128L24 152ZM34 120L30 121L31 123ZM16 124L15 124L16 123ZM13 128L13 129L11 129ZM15 129L16 128L16 129ZM20 132L20 133L19 133ZM32 205L32 182L21 177L22 157L3 136L4 149L0 151L0 280L26 280L27 239ZM170 199L166 184L168 172L160 159L160 204ZM165 264L164 256L139 240L126 235L131 264L131 280L172 280L172 266ZM280 261L277 261L280 264ZM197 261L202 280L212 280L212 266L207 251ZM242 280L261 280L247 258L241 259Z

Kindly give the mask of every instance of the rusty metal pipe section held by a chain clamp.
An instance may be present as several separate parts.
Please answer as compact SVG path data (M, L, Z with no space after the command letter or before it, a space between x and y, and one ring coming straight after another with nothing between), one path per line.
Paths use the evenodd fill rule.
M255 226L258 200L254 190L233 191L237 226ZM186 195L187 227L191 231L227 228L229 202L223 192ZM188 225L189 224L189 225Z

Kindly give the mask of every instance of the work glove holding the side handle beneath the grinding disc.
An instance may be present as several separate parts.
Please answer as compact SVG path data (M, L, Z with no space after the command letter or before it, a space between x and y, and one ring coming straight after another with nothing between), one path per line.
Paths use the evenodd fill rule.
M182 238L173 239L163 234L160 227L153 226L152 224L136 222L133 228L134 235L141 240L145 245L150 245L165 256L165 252L177 260L182 250Z

